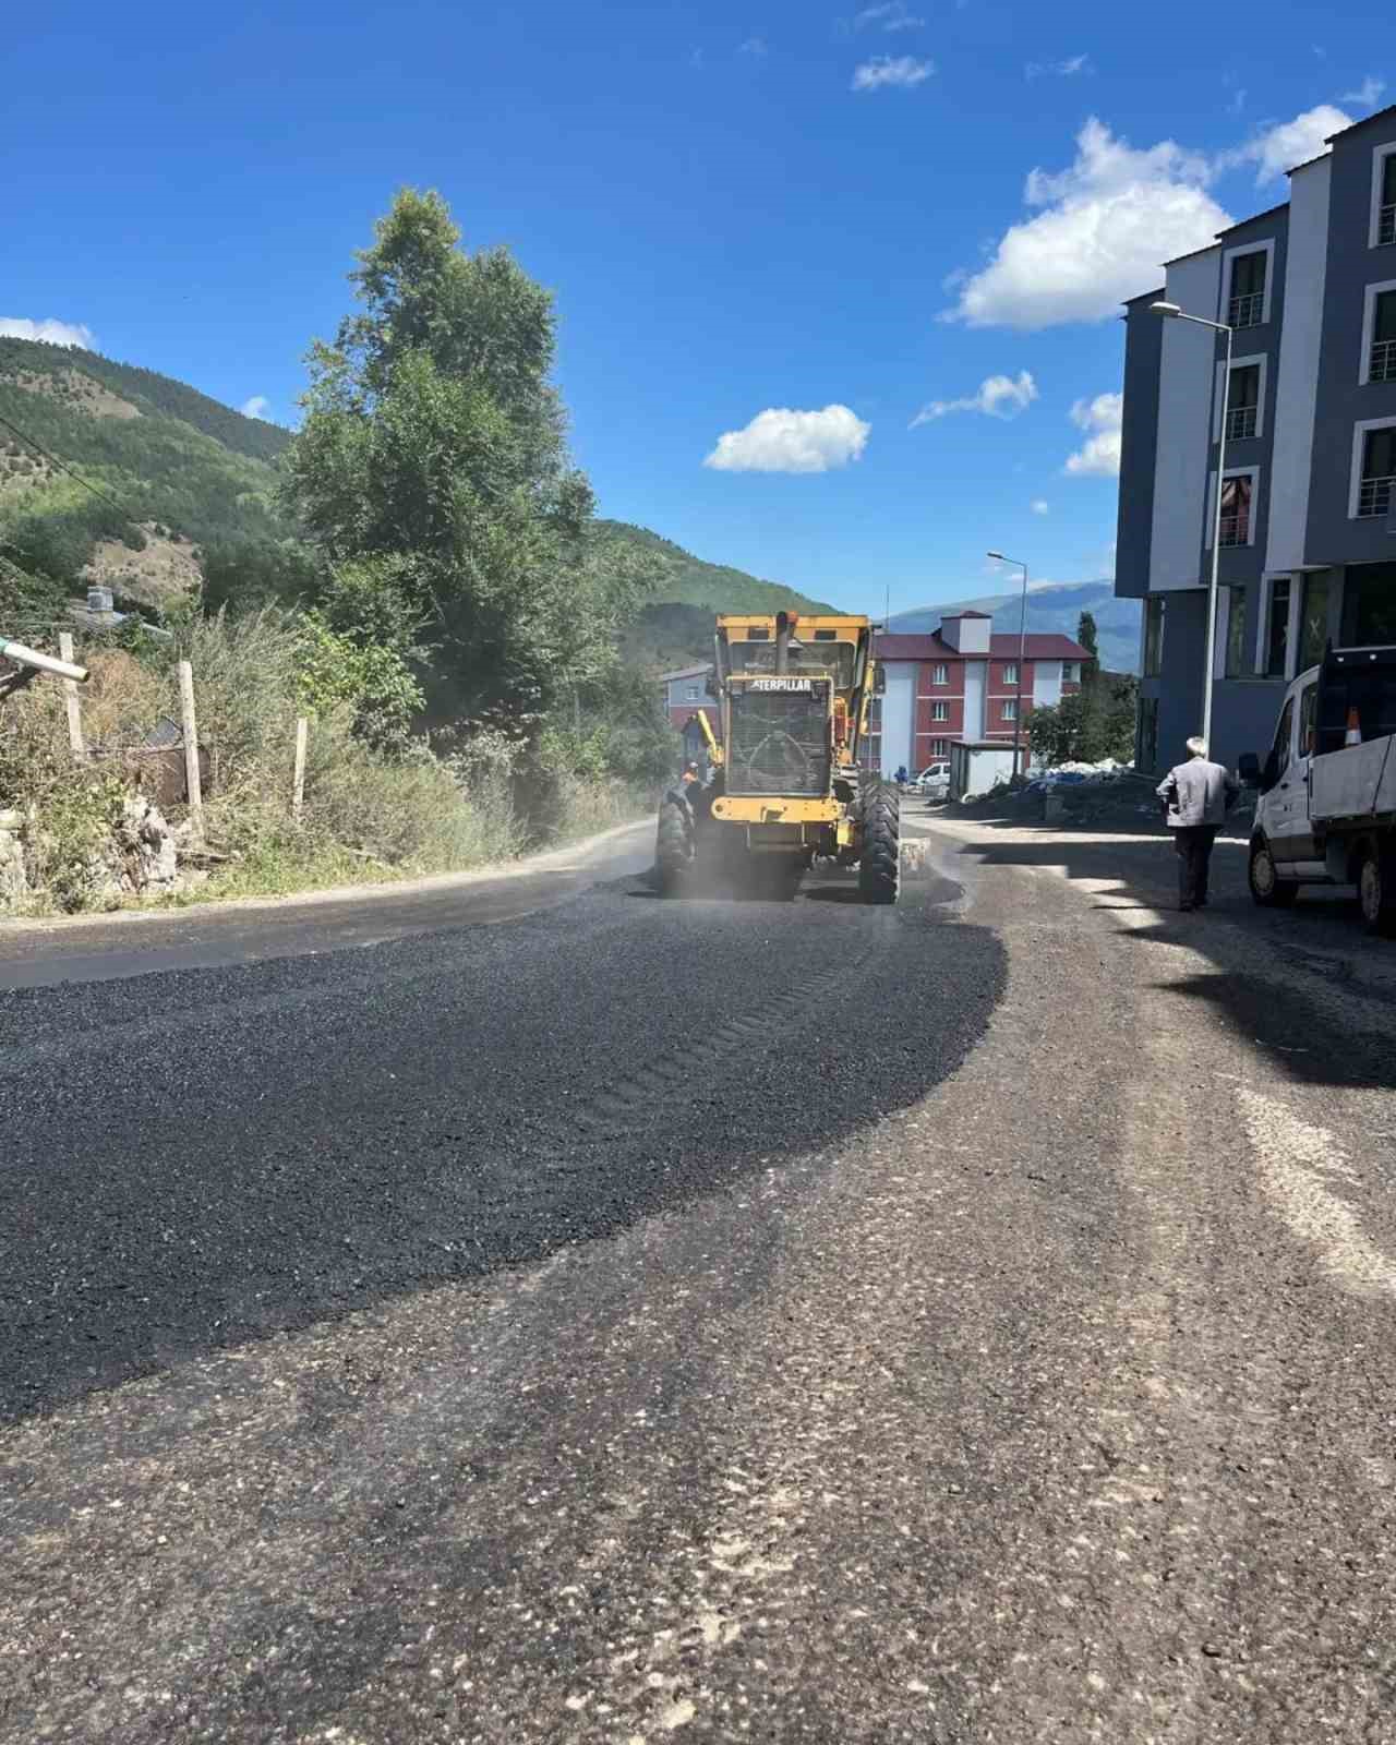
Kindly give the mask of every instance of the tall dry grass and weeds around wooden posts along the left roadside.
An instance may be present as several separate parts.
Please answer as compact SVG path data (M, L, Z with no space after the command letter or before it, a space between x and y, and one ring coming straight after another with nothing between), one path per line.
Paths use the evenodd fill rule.
M380 756L349 731L347 714L312 722L305 804L291 818L297 701L295 635L276 612L197 619L173 651L136 660L120 649L84 653L89 743L140 743L161 719L178 719L174 660L195 672L199 738L209 759L206 841L222 859L197 885L159 897L103 897L84 866L105 820L120 808L115 761L73 766L61 689L42 682L0 707L0 810L30 810L33 890L10 913L54 914L164 907L236 897L283 897L366 883L464 872L595 836L649 815L647 790L612 780L560 777L543 827L513 804L511 770L490 756L443 761L426 747ZM181 808L171 822L178 824Z

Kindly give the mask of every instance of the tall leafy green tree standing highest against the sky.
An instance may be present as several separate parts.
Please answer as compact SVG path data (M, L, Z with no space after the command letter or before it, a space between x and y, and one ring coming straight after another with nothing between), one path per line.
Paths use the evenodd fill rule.
M396 195L349 276L359 312L311 351L284 497L337 574L379 565L433 719L532 735L614 665L644 576L593 537L550 380L551 295L506 250L459 241L440 194ZM344 612L333 628L380 633Z

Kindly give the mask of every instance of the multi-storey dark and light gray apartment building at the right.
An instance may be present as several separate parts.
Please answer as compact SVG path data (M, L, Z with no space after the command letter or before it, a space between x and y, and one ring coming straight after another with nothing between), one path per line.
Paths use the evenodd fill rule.
M1262 750L1324 644L1396 642L1396 106L1290 171L1290 199L1126 304L1115 593L1145 602L1139 768L1202 719L1225 342L1215 754Z

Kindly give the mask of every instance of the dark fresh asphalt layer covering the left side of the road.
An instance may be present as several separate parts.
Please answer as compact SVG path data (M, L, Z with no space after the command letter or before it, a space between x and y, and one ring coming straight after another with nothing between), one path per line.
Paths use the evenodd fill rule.
M665 902L597 871L10 958L0 1413L684 1206L916 1101L993 1009L944 881L876 911L850 876Z

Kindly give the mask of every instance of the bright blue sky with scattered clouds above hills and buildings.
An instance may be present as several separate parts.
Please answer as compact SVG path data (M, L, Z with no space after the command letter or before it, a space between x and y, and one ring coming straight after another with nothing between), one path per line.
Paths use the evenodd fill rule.
M869 611L986 592L986 546L1094 579L1119 298L1391 96L1373 0L1263 37L1197 0L47 5L0 38L0 332L290 422L352 250L436 187L557 291L602 513Z

